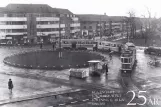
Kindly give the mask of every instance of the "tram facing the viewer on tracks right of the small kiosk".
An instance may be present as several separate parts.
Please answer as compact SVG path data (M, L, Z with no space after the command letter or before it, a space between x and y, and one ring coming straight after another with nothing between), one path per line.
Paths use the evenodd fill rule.
M133 43L126 43L121 53L121 71L130 72L136 63L136 47Z

